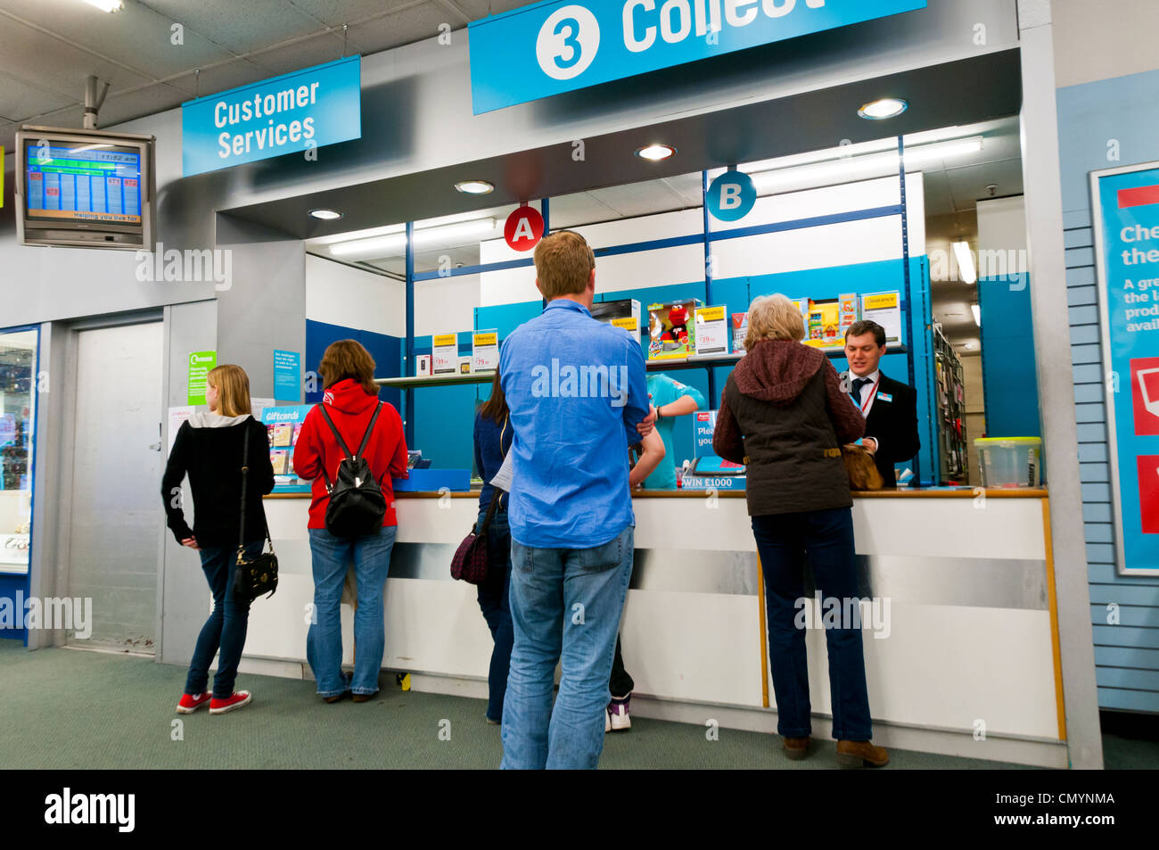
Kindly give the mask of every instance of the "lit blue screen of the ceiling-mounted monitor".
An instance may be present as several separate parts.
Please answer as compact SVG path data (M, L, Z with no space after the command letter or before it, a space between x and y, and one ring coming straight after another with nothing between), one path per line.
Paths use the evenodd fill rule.
M29 139L24 147L24 177L29 219L141 223L138 148Z

